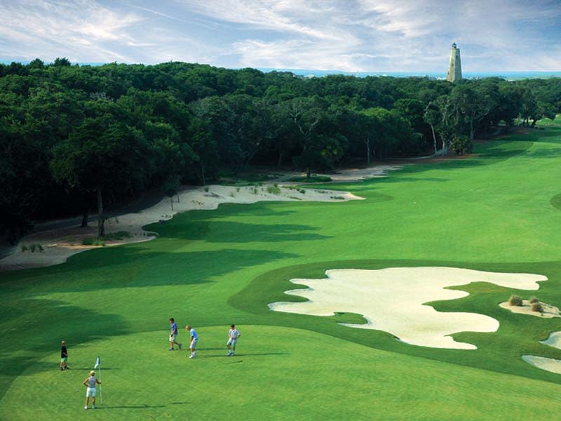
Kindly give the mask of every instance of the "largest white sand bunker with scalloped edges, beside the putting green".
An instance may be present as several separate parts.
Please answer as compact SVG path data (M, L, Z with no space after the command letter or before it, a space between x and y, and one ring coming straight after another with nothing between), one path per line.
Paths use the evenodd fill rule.
M454 300L469 295L449 286L489 282L505 288L536 290L546 276L480 272L454 267L391 267L379 270L333 269L327 279L291 279L307 289L287 294L306 302L273 302L276 312L333 316L335 312L362 314L366 324L352 328L384 330L411 345L434 348L476 349L448 335L458 332L495 332L499 321L475 313L437 312L424 302Z

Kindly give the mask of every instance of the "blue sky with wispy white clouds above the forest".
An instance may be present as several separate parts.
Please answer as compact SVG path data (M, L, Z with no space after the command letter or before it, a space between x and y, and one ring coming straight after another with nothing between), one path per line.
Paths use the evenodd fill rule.
M561 70L560 0L0 0L0 60Z

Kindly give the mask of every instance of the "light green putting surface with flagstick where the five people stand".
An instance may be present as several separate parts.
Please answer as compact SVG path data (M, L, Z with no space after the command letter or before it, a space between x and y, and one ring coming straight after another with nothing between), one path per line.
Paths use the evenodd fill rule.
M224 328L199 333L195 360L187 359L188 352L165 352L158 345L160 333L76 347L74 369L60 375L50 369L56 358L52 353L18 377L6 394L13 402L29 396L25 405L3 406L0 415L10 419L17 412L24 420L38 413L52 420L309 420L336 415L347 420L483 420L497 407L546 417L561 403L561 398L543 397L540 381L379 351L309 330L245 326L234 358L226 357L223 347L215 348L224 344ZM121 342L135 350L134 359ZM86 412L79 406L86 389L81 382L98 349L107 350L103 405ZM438 387L427 387L427 382ZM496 389L493 400L487 396L489 384ZM550 392L559 395L561 385L550 385Z

